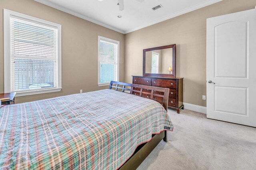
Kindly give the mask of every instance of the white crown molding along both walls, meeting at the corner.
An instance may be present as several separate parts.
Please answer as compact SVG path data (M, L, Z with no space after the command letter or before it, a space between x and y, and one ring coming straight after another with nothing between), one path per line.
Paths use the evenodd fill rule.
M214 3L216 3L216 2L220 2L220 1L222 1L222 0L208 0L208 1L206 1L206 2L202 2L202 3L200 3L200 4L191 6L191 7L189 7L189 8L184 9L184 10L180 10L180 11L178 11L178 12L176 12L176 13L174 13L174 14L171 14L171 15L169 15L169 16L165 16L165 17L160 18L160 19L158 19L158 20L154 20L154 21L145 23L145 24L143 24L143 25L140 25L139 27L136 27L136 28L134 28L134 29L130 29L130 30L128 30L128 31L122 31L122 30L120 30L120 29L118 29L118 28L116 28L116 27L112 27L111 25L102 23L102 22L97 21L97 20L93 20L93 19L88 18L88 17L86 17L86 16L84 16L84 15L82 15L82 14L79 14L79 13L74 12L74 11L72 11L72 10L68 10L67 8L64 8L64 7L62 7L62 6L59 6L59 5L57 5L57 4L54 4L54 3L52 3L52 2L49 2L49 1L47 1L47 0L34 0L34 1L40 2L41 4L45 4L45 5L50 6L50 7L52 7L52 8L56 8L57 10L66 12L66 13L71 14L71 15L73 15L73 16L77 16L78 18L82 18L82 19L87 20L87 21L90 21L90 22L92 22L92 23L96 23L96 24L101 25L101 26L103 26L103 27L106 27L106 28L108 28L108 29L112 29L112 30L117 31L117 32L119 32L119 33L126 34L126 33L130 33L130 32L136 31L136 30L138 30L138 29L142 29L142 28L144 28L144 27L148 27L148 26L150 26L150 25L154 25L154 24L156 24L156 23L159 23L159 22L162 22L162 21L165 21L165 20L174 18L174 17L183 15L183 14L186 14L186 13L188 13L188 12L192 12L192 11L194 11L194 10L198 10L198 9L200 9L200 8L203 8L203 7L205 7L205 6L209 6L209 5L211 5L211 4L214 4Z

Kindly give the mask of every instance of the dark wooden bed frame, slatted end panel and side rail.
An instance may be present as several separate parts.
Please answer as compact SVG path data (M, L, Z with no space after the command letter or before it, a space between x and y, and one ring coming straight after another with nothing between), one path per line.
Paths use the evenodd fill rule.
M115 85L115 86L114 86ZM120 85L122 87L120 87ZM127 88L130 87L130 88ZM123 82L111 81L109 89L114 88L114 90L120 92L130 93L136 96L149 98L155 100L162 104L164 109L168 109L168 88L160 88L154 86L144 86L140 84L129 84ZM152 135L152 139L147 143L139 145L134 154L119 168L120 170L136 170L138 166L146 159L146 157L152 152L152 150L164 139L167 142L167 131L162 131L159 134Z

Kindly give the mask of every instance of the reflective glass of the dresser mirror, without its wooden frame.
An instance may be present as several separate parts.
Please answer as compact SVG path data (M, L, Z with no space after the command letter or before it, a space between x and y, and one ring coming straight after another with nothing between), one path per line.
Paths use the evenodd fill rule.
M173 74L172 48L146 51L145 71L149 74Z

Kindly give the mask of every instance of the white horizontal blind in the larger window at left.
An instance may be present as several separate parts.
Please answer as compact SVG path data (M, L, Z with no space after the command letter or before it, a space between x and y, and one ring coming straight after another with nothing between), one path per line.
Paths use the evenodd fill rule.
M43 23L10 17L11 91L56 88L58 29Z

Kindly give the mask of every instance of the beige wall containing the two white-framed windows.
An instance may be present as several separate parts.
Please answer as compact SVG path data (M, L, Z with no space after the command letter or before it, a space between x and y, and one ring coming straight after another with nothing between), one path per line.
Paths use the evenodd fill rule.
M0 93L4 92L3 8L62 25L62 91L15 98L16 103L100 90L98 35L120 41L120 81L124 81L124 34L34 0L0 0Z

